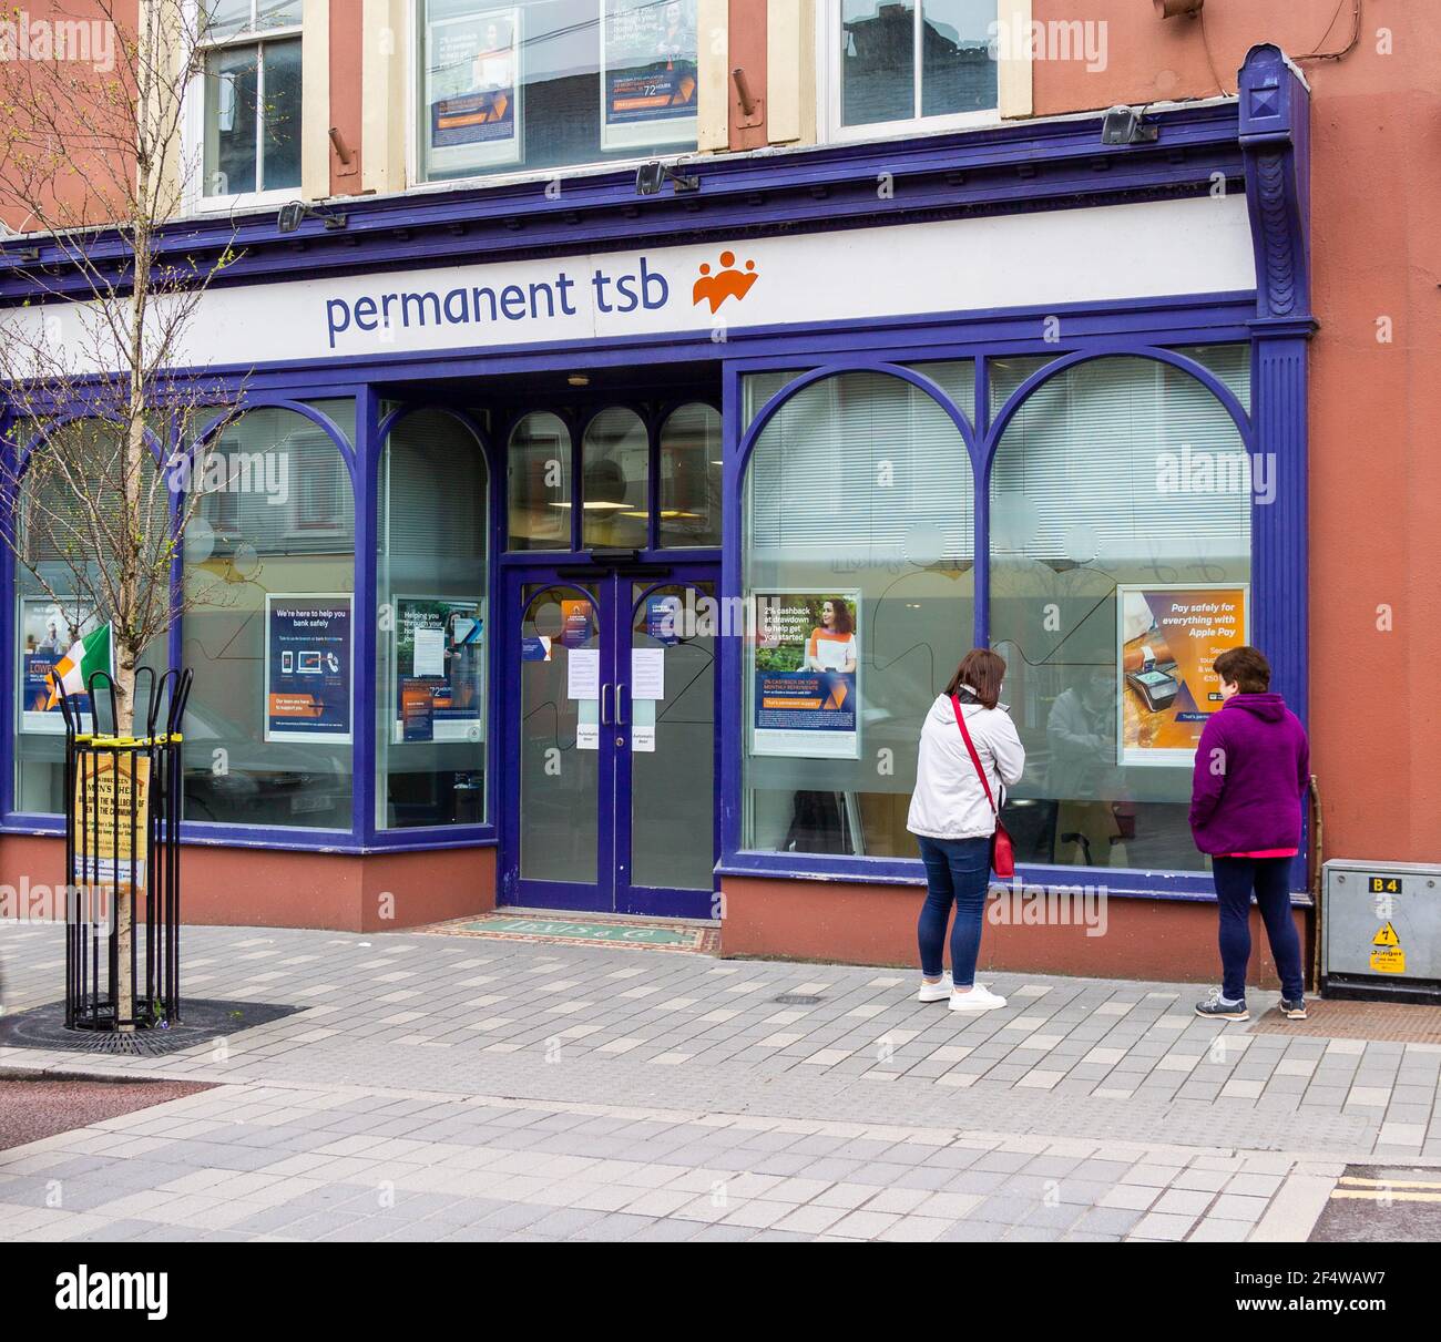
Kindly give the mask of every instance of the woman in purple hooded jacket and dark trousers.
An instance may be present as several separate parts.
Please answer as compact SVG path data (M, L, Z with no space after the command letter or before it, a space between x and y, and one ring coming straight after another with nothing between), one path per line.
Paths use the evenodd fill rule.
M1222 983L1196 1014L1249 1019L1251 894L1281 975L1281 1011L1306 1019L1301 942L1291 920L1291 860L1301 842L1301 798L1311 779L1300 719L1270 694L1271 664L1257 648L1232 648L1215 662L1221 710L1196 747L1190 832L1210 854L1221 910Z

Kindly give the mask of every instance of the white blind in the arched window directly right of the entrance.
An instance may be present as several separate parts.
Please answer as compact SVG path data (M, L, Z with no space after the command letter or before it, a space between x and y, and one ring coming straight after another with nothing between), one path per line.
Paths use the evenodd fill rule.
M965 442L899 377L843 373L795 393L761 432L746 500L757 559L971 559Z

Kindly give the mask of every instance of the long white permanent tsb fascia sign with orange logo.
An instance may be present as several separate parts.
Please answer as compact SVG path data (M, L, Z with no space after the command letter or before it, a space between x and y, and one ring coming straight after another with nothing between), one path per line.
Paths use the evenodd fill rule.
M733 245L225 287L189 367L695 336L1255 287L1245 199L1197 197L892 225ZM39 310L56 318L56 308ZM4 320L35 320L36 310ZM76 350L84 310L61 310Z

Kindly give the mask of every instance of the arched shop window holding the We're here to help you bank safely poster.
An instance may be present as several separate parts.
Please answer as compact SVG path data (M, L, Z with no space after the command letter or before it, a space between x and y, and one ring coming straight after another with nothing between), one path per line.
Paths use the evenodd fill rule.
M354 439L354 402L313 406ZM187 527L184 818L350 829L354 491L330 433L285 407L233 420Z

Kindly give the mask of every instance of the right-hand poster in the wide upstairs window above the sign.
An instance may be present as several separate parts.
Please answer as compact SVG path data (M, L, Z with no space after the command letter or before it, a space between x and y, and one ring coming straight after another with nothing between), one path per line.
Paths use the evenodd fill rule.
M601 0L601 147L696 135L696 0Z

